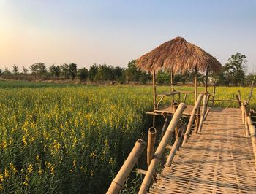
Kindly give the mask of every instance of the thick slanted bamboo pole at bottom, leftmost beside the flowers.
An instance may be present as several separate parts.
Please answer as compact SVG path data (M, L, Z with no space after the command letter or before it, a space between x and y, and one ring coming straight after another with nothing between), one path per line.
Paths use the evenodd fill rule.
M143 141L142 139L138 139L136 141L135 146L133 147L132 151L129 153L129 156L127 157L127 160L124 161L124 164L118 171L118 174L116 175L115 179L113 179L113 181L111 182L111 185L107 191L108 194L115 194L121 190L121 188L124 185L124 182L129 176L129 173L132 171L132 168L135 166L135 163L137 163L138 158L140 158L140 155L145 149L145 147L145 141Z

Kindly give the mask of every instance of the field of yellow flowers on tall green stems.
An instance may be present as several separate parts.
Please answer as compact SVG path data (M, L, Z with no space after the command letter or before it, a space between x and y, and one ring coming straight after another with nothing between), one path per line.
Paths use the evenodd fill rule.
M217 88L217 98L238 89L249 95ZM146 131L152 104L151 86L1 81L0 193L103 193Z

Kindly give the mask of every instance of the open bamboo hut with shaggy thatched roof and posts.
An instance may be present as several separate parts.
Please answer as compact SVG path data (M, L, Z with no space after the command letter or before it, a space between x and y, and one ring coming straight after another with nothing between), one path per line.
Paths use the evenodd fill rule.
M136 60L136 65L145 71L151 71L153 75L153 97L154 97L154 112L148 112L152 115L172 115L173 101L170 105L159 107L160 102L165 96L178 95L180 98L181 93L173 88L173 74L184 74L186 71L194 71L194 85L195 85L195 101L197 100L197 72L206 72L206 93L208 93L208 72L217 72L221 69L222 65L216 58L211 56L206 51L197 47L195 44L187 42L182 37L176 37L168 42L161 44L159 47L151 50L149 53L142 55ZM169 71L171 92L165 94L156 93L156 73L157 71ZM190 92L191 93L191 92ZM157 102L157 96L161 97ZM190 115L193 106L187 106L184 115Z

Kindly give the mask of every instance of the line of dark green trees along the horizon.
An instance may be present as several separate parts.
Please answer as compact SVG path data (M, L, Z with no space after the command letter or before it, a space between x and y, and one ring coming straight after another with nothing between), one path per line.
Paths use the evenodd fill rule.
M209 82L216 82L217 85L248 85L249 82L255 79L255 75L246 75L246 55L236 53L231 55L225 66L222 66L222 71L217 74L209 75ZM109 66L105 63L93 64L86 69L85 67L78 69L77 64L51 65L49 68L45 63L34 63L29 66L29 69L22 67L19 71L18 66L13 65L12 71L5 68L0 69L0 77L3 79L78 79L81 82L140 82L146 84L151 82L152 75L150 72L142 71L135 65L136 61L129 61L127 68L120 66ZM203 84L205 82L205 74L198 73L198 81ZM173 82L181 82L186 84L192 82L194 72L188 71L185 74L176 74L173 77ZM157 73L158 85L170 85L170 72L159 71Z

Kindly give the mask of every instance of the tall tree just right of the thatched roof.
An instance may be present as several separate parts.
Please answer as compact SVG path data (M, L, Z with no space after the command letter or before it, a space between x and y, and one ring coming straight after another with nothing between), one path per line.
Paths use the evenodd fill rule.
M231 55L222 69L226 84L238 85L244 82L246 62L246 55L241 55L241 53Z

